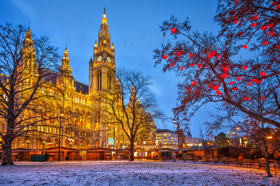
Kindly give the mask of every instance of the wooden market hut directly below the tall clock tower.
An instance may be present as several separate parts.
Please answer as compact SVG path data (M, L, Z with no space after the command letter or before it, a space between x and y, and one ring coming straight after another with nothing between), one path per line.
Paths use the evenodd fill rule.
M112 151L113 149L97 147L85 149L83 155L86 160L112 160Z

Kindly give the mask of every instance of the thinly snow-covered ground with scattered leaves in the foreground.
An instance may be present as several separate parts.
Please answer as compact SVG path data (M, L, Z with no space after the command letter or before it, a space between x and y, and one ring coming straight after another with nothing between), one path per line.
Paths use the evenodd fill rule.
M0 185L280 185L280 171L153 161L16 162L0 166Z

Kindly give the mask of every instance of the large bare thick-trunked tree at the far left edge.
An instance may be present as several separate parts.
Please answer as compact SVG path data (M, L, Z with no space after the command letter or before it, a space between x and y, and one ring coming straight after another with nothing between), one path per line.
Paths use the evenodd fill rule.
M42 130L49 125L62 130L78 128L71 120L62 125L58 122L61 113L70 119L71 112L62 108L64 89L57 85L60 76L66 75L59 71L58 49L48 43L46 37L32 38L25 26L0 25L0 117L6 128L0 132L4 140L0 141L1 165L13 165L11 148L17 137L50 135Z

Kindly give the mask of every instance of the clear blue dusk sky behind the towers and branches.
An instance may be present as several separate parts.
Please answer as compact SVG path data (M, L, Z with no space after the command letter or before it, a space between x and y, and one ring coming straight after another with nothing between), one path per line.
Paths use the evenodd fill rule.
M8 21L28 26L30 22L33 33L47 36L52 45L60 47L60 55L63 55L67 43L74 78L88 84L88 61L93 55L105 5L111 42L117 50L116 66L123 65L151 74L159 105L170 116L176 104L176 84L179 78L173 73L162 74L162 66L153 67L152 50L159 48L162 42L172 40L171 37L161 37L159 25L173 14L181 21L188 17L192 30L218 32L220 27L212 20L216 12L216 1L1 0L0 23ZM154 39L155 36L158 40ZM129 42L131 47L126 48L125 43ZM207 113L209 109L213 108L210 105L201 108L192 118L192 134L198 133L199 125L204 128L203 123L210 119ZM167 125L168 129L174 129L171 121Z

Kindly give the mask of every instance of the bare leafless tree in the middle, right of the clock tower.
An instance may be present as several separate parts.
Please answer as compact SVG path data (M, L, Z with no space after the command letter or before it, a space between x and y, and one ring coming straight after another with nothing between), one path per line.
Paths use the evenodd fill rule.
M100 91L96 98L100 101L103 116L113 116L110 123L120 126L130 141L130 161L137 131L142 127L150 130L166 120L164 111L158 108L156 94L151 90L152 77L135 69L119 67L116 70L114 87Z

